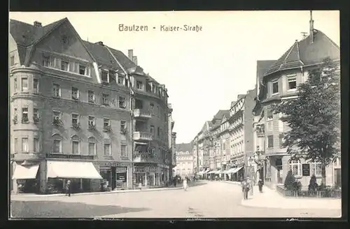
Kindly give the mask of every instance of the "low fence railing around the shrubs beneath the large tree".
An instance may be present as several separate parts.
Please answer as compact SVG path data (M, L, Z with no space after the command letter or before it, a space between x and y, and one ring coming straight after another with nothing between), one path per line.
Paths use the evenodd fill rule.
M290 191L285 189L283 186L276 186L276 191L286 197L294 198L342 198L342 191L335 189L326 189L322 191Z

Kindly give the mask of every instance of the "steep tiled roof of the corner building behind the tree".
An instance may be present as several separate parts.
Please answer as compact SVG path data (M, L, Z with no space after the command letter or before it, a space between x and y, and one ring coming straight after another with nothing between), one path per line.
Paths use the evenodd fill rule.
M340 59L340 48L322 31L314 29L314 42L311 42L311 36L304 40L297 41L274 63L269 67L265 75L270 75L278 71L289 68L299 68L318 64L326 57L337 60Z

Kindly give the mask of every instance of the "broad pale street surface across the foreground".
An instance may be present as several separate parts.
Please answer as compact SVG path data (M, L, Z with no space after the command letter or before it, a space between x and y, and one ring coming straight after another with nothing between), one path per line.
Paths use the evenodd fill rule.
M205 182L203 182L205 183ZM253 197L251 197L253 198ZM13 217L221 218L221 217L339 217L340 209L285 209L241 205L241 187L207 182L181 189L103 195L14 195ZM253 200L253 199L252 199ZM246 200L246 201L252 201ZM267 200L268 202L269 200Z

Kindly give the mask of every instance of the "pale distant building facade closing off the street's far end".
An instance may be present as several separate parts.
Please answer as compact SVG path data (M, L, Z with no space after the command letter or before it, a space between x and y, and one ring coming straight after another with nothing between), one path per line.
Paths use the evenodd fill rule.
M181 143L176 145L175 175L190 177L193 175L193 143Z

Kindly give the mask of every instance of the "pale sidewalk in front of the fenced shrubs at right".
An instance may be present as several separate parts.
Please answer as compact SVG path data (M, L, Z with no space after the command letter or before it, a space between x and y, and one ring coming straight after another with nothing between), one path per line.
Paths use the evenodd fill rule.
M258 186L254 186L253 195L248 194L248 200L243 199L242 193L241 205L280 209L342 209L341 199L286 198L267 186L264 186L262 191L263 193L260 193Z

